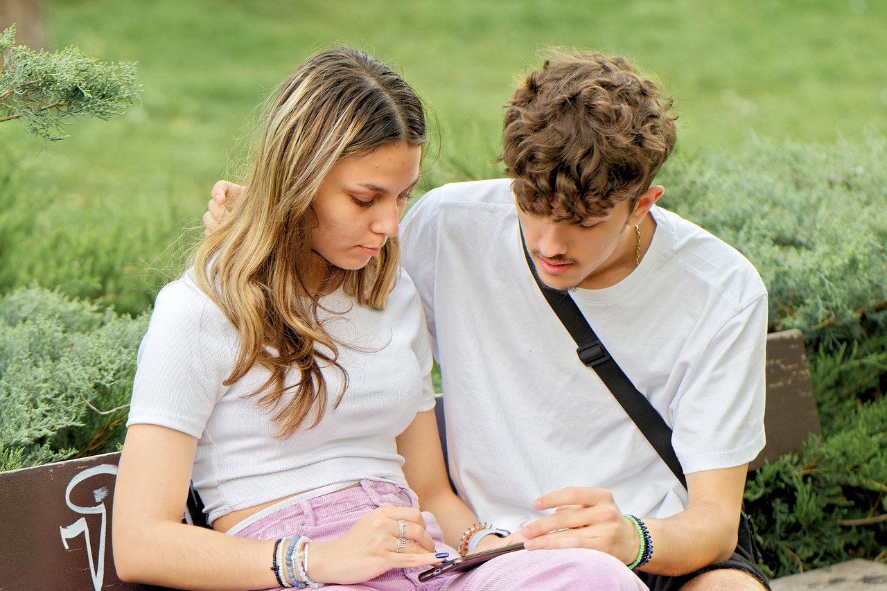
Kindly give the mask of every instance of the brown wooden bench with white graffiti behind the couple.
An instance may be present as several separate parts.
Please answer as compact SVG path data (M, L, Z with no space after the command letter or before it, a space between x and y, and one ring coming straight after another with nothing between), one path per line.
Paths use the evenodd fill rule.
M438 405L442 440L443 404ZM767 446L757 464L796 451L820 424L799 331L767 339ZM445 449L445 440L444 440ZM0 473L0 591L156 589L123 583L111 552L111 500L120 453ZM196 493L185 523L206 525Z

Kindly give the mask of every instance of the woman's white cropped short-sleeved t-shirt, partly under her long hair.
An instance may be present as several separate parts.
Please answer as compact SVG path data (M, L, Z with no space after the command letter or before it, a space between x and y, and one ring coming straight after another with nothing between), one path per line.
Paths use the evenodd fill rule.
M210 522L302 491L331 492L361 479L405 485L395 437L415 414L435 406L431 352L419 296L402 272L384 310L359 306L341 289L321 298L320 313L339 343L348 390L337 408L341 373L322 369L326 414L318 426L275 438L272 411L247 395L268 378L252 367L224 386L239 338L224 313L192 280L161 289L138 366L127 426L150 423L198 439L193 482ZM294 383L295 372L287 379ZM284 401L288 400L287 395ZM316 490L315 490L316 489Z

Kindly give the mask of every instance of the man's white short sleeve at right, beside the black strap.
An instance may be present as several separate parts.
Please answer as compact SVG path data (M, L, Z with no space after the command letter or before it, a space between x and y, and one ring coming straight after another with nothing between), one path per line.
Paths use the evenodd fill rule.
M764 448L766 327L764 295L695 349L671 407L684 472L739 466Z

